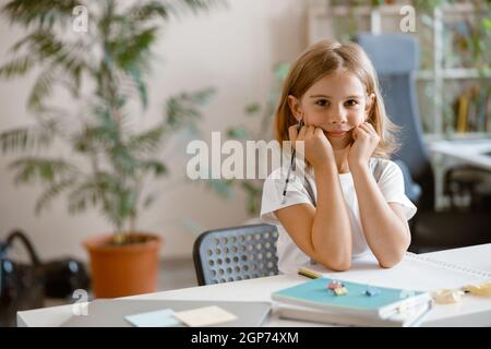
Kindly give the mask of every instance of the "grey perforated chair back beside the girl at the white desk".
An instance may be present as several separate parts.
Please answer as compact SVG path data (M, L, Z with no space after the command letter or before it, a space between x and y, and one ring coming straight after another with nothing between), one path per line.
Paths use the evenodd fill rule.
M197 285L277 275L277 238L276 227L266 224L203 232L193 245Z

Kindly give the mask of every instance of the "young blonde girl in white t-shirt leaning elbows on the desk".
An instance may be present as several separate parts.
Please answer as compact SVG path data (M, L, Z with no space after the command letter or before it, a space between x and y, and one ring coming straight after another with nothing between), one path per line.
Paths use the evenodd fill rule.
M289 161L273 171L261 208L262 220L278 228L282 273L312 262L346 270L367 253L382 267L402 260L416 207L402 170L386 159L396 148L391 130L375 71L358 45L323 40L296 60L276 111L276 137L297 149L303 141L307 166L291 171L285 197Z

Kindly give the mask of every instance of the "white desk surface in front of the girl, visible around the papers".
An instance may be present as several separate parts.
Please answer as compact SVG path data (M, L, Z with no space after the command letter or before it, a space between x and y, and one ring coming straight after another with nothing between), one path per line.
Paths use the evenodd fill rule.
M434 260L452 262L483 270L491 270L491 243L471 248L426 253ZM165 300L241 300L271 301L270 294L285 287L295 286L307 279L298 275L278 275L252 280L192 287L165 292L156 292L131 297L131 299L165 299ZM480 303L481 302L481 303ZM482 302L491 300L464 300L457 304L436 305L423 326L459 326L462 320L452 320L453 315L479 310ZM489 314L489 313L488 313ZM72 315L72 305L44 308L17 312L19 326L58 326ZM489 316L489 315L488 315ZM491 320L490 320L491 321ZM471 324L467 324L471 325ZM491 323L490 323L491 325ZM278 318L271 316L266 326L320 326L319 324Z

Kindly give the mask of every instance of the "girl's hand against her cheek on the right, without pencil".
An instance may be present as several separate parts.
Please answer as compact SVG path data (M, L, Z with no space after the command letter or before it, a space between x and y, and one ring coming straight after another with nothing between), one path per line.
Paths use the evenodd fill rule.
M349 168L368 166L370 157L379 145L379 134L369 122L363 122L354 129L352 139L354 143L348 155Z

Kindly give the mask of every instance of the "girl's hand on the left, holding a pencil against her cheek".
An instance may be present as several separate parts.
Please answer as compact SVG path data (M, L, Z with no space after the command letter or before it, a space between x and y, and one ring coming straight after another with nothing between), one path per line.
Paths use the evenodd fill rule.
M303 141L303 153L301 156L313 167L324 166L328 161L334 161L333 147L321 128L304 125L297 133L297 125L292 125L288 129L288 132L298 154L301 151L297 141Z

